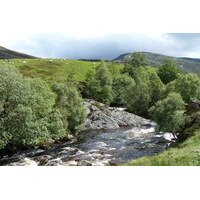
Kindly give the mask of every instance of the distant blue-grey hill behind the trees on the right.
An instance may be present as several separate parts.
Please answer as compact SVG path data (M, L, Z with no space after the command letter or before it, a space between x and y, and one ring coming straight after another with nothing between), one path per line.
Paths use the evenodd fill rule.
M188 57L178 58L157 53L149 53L149 52L142 52L142 53L146 54L150 62L150 66L152 67L159 67L163 65L164 60L166 58L171 58L184 73L193 72L200 74L200 59L198 58L188 58ZM118 63L123 63L124 57L129 54L130 53L122 54L113 60Z

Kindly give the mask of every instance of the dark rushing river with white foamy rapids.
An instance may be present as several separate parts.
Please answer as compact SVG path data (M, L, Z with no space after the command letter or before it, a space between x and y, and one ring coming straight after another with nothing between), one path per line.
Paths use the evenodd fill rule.
M87 131L74 142L53 144L48 149L3 155L0 165L121 165L143 156L156 155L174 143L170 133L156 134L155 124L116 130Z

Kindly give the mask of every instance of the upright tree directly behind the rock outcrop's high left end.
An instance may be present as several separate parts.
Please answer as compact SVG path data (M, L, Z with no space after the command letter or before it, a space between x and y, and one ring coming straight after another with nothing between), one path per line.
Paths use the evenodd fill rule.
M95 72L89 71L86 75L85 85L90 93L89 96L109 105L113 100L111 74L104 62L95 70Z

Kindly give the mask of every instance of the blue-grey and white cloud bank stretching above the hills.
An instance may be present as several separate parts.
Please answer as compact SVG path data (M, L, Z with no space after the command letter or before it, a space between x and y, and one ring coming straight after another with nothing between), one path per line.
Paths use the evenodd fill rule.
M75 37L67 34L31 34L12 48L42 58L113 59L122 53L146 51L170 56L200 57L200 34L113 33Z

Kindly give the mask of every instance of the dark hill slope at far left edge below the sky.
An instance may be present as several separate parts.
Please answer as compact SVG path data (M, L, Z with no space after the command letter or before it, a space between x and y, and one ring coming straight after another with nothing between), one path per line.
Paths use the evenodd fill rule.
M17 51L12 51L0 46L0 59L24 59L24 58L37 58L35 56L30 56L28 54L20 53Z

